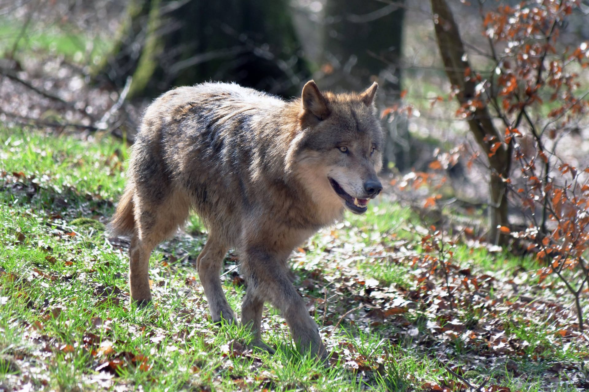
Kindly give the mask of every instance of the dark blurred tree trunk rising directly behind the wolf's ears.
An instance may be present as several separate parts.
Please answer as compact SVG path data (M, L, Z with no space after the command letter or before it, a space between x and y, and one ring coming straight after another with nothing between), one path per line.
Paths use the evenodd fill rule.
M380 107L399 100L401 91L401 44L403 1L383 4L373 0L327 0L325 14L325 76L322 87L359 91L378 81ZM408 146L406 121L383 123L388 129L384 154L401 162L402 146ZM402 140L399 140L402 139ZM401 143L399 143L401 142Z

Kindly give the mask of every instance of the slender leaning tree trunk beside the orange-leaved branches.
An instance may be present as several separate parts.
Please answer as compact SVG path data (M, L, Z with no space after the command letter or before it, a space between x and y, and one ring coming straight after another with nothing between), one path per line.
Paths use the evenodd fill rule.
M475 82L465 78L467 70L472 68L468 62L468 56L466 56L458 25L446 0L431 0L431 4L432 12L436 15L434 28L446 74L450 83L459 90L456 99L461 105L464 105L469 99L475 98L476 93ZM468 120L468 126L478 145L487 153L490 166L489 234L487 240L505 245L509 236L499 227L508 226L507 184L504 180L509 177L511 172L511 149L505 146L505 143L501 143L496 151L491 150L491 144L500 142L502 138L493 125L487 106L481 105L474 110Z

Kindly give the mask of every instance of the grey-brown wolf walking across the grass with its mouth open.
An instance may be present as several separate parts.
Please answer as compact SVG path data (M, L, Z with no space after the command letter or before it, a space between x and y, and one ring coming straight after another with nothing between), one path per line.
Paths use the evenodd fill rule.
M110 223L131 237L131 299L151 300L148 264L193 210L209 232L198 277L214 322L236 322L221 287L227 250L239 253L246 281L241 323L261 339L265 302L280 309L303 353L325 359L317 324L289 278L289 255L346 209L366 212L382 190L383 131L362 93L321 92L314 81L283 100L230 83L164 93L145 110Z

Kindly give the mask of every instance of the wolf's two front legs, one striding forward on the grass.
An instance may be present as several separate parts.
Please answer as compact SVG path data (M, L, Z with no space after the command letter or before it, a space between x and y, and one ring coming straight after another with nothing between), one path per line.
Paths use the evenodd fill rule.
M299 351L311 352L325 359L327 350L319 336L317 324L309 316L305 302L290 283L282 260L260 248L247 247L241 260L241 272L247 283L246 301L250 301L249 296L270 301L282 311ZM257 307L246 307L246 301L244 301L243 315L246 316L246 322L252 325L254 339L259 339L262 321L261 304L258 302Z

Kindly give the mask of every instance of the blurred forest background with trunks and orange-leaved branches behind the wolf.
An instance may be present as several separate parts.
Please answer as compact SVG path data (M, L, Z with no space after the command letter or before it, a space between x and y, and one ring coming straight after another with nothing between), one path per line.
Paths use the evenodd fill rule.
M589 6L518 4L4 1L0 120L132 143L143 109L174 86L231 81L289 99L309 79L333 91L378 81L383 175L405 175L401 190L411 191L391 189L389 197L468 215L487 211L478 234L505 245L510 230L538 214L534 225L548 230L545 195L519 185L534 177L559 183L565 162L589 164ZM517 160L527 162L521 170ZM529 165L538 160L546 161L541 173Z

